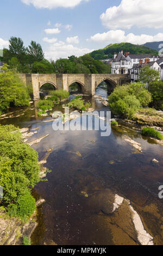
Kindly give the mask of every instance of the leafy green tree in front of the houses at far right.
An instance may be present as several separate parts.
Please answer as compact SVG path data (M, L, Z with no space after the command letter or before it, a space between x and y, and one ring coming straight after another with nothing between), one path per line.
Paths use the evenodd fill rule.
M143 66L143 68L140 70L139 81L149 85L151 82L157 80L160 80L160 72L149 68L148 65Z

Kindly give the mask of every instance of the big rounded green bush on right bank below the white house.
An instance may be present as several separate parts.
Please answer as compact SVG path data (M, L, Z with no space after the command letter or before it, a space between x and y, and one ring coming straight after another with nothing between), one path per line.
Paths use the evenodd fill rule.
M142 106L147 106L152 97L145 84L131 83L115 88L108 97L112 113L132 118Z

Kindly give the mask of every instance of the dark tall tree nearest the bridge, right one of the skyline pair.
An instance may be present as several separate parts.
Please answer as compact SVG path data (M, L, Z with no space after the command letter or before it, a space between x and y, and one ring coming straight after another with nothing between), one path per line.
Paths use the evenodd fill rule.
M41 62L44 58L44 53L40 44L37 44L35 41L31 41L30 45L27 48L27 54L29 55L29 63Z

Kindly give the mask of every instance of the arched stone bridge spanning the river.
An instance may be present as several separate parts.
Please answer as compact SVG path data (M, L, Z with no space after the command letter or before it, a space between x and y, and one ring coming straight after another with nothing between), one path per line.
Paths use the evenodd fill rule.
M40 88L45 83L51 83L54 89L67 90L73 83L78 83L79 91L95 95L96 87L103 81L108 84L108 92L116 86L130 82L128 75L111 74L20 74L20 78L28 86L33 85L34 100L40 99Z

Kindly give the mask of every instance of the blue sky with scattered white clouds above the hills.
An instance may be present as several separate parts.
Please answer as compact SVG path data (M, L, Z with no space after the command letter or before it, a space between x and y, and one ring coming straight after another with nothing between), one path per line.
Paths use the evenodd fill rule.
M162 0L2 0L0 48L19 36L57 59L110 43L161 41L162 9Z

